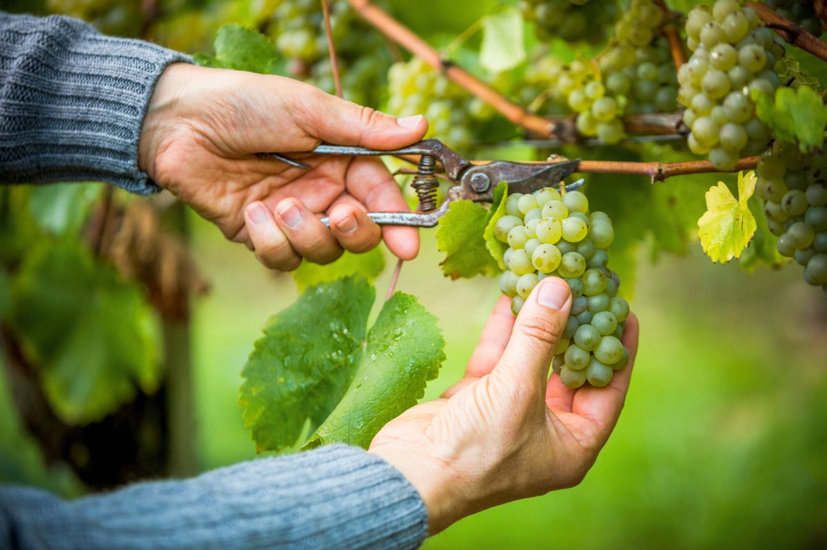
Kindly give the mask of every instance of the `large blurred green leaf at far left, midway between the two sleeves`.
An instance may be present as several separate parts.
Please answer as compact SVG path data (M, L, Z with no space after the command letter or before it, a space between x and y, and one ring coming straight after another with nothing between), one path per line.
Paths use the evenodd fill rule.
M141 290L76 240L41 240L14 279L9 322L67 424L101 420L160 381ZM49 322L44 322L48 319Z

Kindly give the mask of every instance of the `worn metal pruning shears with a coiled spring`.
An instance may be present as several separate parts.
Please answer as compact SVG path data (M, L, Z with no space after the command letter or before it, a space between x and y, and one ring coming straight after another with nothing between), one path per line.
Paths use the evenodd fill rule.
M509 193L530 193L543 187L556 187L580 165L580 159L566 160L554 164L516 163L495 160L486 164L473 164L440 140L423 140L402 149L380 150L366 147L342 145L319 145L312 154L338 154L344 156L406 155L419 156L417 172L411 187L419 197L418 212L370 212L368 216L380 225L411 225L433 227L437 225L454 201L463 199L474 202L491 202L494 188L500 182L508 182ZM310 165L291 159L283 154L265 153L264 156L278 159L296 168L310 169ZM437 161L442 164L445 174L452 182L445 201L437 208ZM583 180L566 185L566 191L574 191L583 185ZM323 218L327 225L327 218Z

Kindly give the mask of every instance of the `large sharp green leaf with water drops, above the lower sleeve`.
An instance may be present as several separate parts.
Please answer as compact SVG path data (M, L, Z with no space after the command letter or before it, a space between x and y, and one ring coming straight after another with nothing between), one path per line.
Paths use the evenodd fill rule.
M364 278L345 277L309 287L268 321L241 372L239 401L256 448L288 448L307 424L311 446L365 445L422 396L444 359L437 321L398 292L367 334L374 297Z

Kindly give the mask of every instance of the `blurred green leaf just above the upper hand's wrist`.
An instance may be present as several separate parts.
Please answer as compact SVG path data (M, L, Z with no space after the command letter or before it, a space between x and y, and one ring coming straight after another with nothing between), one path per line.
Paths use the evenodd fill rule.
M224 25L218 29L213 42L215 55L199 53L195 62L205 67L236 69L251 73L270 74L278 58L272 41L242 25Z

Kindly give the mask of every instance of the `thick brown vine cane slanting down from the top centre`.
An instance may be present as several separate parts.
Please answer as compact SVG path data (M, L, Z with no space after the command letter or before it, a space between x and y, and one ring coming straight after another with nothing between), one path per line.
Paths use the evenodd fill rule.
M528 130L529 134L561 140L564 143L575 143L582 139L576 129L575 116L544 118L533 114L510 101L503 94L491 88L488 83L476 78L458 64L443 59L439 51L429 45L428 42L393 17L390 17L382 9L376 7L370 0L349 0L349 2L361 17L383 35L409 50L412 54L422 58L433 69L445 75L446 78L465 89L466 92L479 97L510 122ZM681 118L682 113L678 111L674 113L629 115L624 116L623 121L626 131L631 134L686 134L686 128L682 126Z

